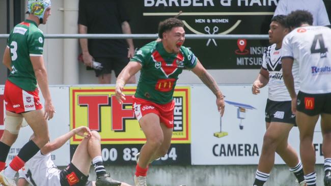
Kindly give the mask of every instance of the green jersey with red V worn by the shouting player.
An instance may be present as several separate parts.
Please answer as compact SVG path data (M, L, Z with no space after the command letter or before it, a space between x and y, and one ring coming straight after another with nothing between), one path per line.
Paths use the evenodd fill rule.
M162 42L153 41L138 50L130 61L142 65L134 96L157 104L166 104L173 100L178 75L183 69L194 68L198 59L186 47L181 46L177 54L168 53Z

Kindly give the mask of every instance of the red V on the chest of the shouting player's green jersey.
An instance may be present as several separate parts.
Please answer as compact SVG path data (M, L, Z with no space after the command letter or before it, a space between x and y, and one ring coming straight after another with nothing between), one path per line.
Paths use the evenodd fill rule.
M161 69L163 70L164 74L166 74L167 76L173 74L176 70L177 70L177 61L183 61L184 56L182 53L178 53L176 58L174 59L172 64L167 64L166 61L163 59L163 57L161 56L161 54L155 50L152 53L152 56L154 58L155 61L160 61L161 62Z

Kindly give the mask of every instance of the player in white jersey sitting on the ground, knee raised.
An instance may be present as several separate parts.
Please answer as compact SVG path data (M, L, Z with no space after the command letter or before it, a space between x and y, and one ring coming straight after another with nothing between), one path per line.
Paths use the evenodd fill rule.
M71 163L64 170L59 170L51 160L50 153L62 147L71 137L84 137L76 148ZM34 135L32 136L34 138ZM97 174L97 181L88 181L91 163ZM100 135L87 127L79 127L48 142L40 151L19 170L17 186L128 186L113 180L105 171L102 158Z

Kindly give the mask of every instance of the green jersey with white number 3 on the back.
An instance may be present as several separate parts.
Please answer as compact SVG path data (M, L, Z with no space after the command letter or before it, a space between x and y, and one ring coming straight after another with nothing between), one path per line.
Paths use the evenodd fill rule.
M12 71L9 81L23 90L33 91L37 88L37 80L30 56L42 56L44 36L37 24L25 20L17 24L11 31L7 47L11 53Z

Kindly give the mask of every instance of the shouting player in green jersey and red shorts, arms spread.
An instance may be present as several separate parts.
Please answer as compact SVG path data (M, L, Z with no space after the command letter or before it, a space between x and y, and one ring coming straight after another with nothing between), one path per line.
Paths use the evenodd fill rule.
M143 46L135 53L116 81L116 98L123 103L124 85L141 71L133 110L147 141L137 160L135 186L147 185L148 164L168 152L174 127L174 88L183 69L194 72L209 87L216 96L218 111L221 115L224 113L224 96L214 78L194 53L182 46L185 41L183 22L177 18L160 22L158 37L160 39Z

